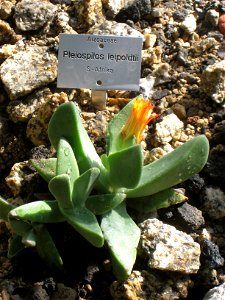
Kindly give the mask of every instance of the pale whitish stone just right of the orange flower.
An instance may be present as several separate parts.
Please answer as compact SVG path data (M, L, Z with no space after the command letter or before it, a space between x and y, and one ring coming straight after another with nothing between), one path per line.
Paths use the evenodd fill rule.
M155 134L152 139L154 145L166 144L173 140L184 128L184 123L174 114L168 114L156 124Z

